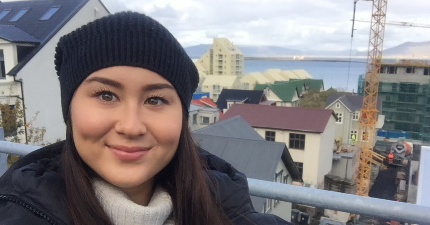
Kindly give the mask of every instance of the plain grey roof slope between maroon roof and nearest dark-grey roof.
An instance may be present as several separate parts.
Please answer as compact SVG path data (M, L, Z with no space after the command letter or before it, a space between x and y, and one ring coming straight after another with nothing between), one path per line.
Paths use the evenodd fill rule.
M237 115L235 117L215 122L211 126L204 127L193 131L194 134L206 134L219 137L231 137L247 140L260 140L265 139L258 134L245 119Z

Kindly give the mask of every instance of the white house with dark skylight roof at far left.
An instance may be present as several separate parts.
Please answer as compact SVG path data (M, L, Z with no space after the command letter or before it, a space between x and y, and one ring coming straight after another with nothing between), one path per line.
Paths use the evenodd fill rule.
M0 98L21 101L25 122L45 127L47 142L64 139L66 130L54 65L56 44L61 36L107 14L100 0L0 2ZM26 135L21 138L24 142Z

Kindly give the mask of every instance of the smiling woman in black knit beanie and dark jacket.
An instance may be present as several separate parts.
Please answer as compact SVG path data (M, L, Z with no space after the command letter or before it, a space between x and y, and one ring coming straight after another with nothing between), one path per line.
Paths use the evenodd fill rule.
M0 178L0 224L287 224L254 211L246 177L198 150L199 81L161 24L121 12L62 37L55 54L66 140Z

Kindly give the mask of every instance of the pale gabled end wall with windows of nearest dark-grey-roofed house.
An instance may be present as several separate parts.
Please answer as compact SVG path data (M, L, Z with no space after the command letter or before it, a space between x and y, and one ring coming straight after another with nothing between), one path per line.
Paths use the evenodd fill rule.
M283 182L283 176L288 175L288 179L287 182L285 182L286 184L292 184L293 181L291 179L290 174L288 173L287 168L285 167L284 163L282 162L282 160L279 160L278 162L278 166L276 168L276 173L279 173L279 171L282 170L282 179L281 179L281 183ZM274 177L274 175L273 175ZM274 178L273 178L273 181ZM264 211L264 209L263 209ZM262 212L265 213L265 212ZM282 201L277 201L275 203L275 200L272 200L272 206L271 206L271 210L269 210L270 214L276 215L280 218L282 218L285 221L290 222L291 221L291 203L290 202L282 202Z

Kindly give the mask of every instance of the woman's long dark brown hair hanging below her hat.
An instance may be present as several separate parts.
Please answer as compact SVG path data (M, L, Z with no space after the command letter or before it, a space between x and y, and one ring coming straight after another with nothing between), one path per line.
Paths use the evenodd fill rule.
M216 185L212 185L206 172L206 163L200 160L187 115L183 113L176 154L159 172L156 184L165 188L172 198L175 225L231 225L219 201L211 194L209 186ZM76 151L68 118L62 166L70 215L76 225L113 225L94 194L91 181L94 171Z

